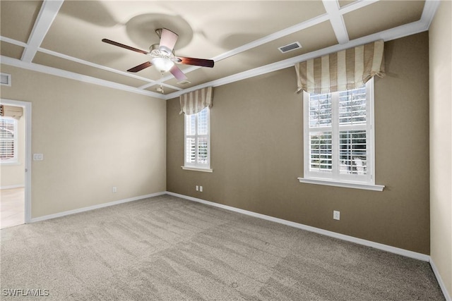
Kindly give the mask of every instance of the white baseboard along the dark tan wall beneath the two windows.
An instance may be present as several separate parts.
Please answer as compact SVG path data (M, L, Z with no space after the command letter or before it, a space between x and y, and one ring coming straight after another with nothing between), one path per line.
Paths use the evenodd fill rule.
M264 214L258 214L258 213L253 212L253 211L247 211L247 210L238 209L238 208L235 208L235 207L230 207L230 206L223 205L223 204L218 204L218 203L215 203L215 202L209 202L209 201L206 201L204 199L197 199L196 197L188 197L186 195L179 195L178 193L174 193L174 192L167 192L167 194L168 195L173 195L174 197L181 197L183 199L189 199L190 201L199 202L199 203L207 204L207 205L210 205L210 206L219 207L219 208L222 208L222 209L227 209L227 210L230 210L230 211L239 212L241 214L254 216L254 217L257 217L259 219L266 219L267 221L274 221L275 223L283 223L284 225L287 225L287 226L291 226L291 227L294 227L294 228L299 228L299 229L310 231L310 232L314 232L314 233L319 233L319 234L322 234L322 235L330 236L332 238L338 238L340 240L346 240L346 241L349 241L349 242L355 242L355 243L357 243L359 245L366 245L367 247L374 247L375 249L379 249L379 250L383 250L383 251L387 251L387 252L403 255L405 257L419 259L419 260L422 260L423 262L429 262L429 260L430 260L429 255L422 254L422 253L417 253L417 252L412 252L412 251L405 250L405 249L400 249L399 247L392 247L390 245L383 245L383 244L381 244L379 242L372 242L370 240L363 240L361 238L355 238L353 236L344 235L344 234L340 234L340 233L335 233L335 232L332 232L332 231L323 230L321 228L315 228L315 227L307 226L307 225L304 225L302 223L295 223L293 221L286 221L285 219L278 219L278 218L273 217L273 216L268 216L268 215L264 215Z

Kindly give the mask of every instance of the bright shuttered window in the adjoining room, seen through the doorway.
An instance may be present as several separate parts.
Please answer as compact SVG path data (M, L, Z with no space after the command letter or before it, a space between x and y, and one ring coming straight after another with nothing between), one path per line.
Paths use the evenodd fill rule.
M17 163L17 121L10 117L0 117L0 162Z

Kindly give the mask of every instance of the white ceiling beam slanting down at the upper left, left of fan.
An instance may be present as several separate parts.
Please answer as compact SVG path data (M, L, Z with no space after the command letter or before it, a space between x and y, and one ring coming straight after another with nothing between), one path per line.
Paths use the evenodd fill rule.
M23 51L21 61L25 63L31 63L35 58L37 49L41 46L45 35L49 31L50 25L57 17L59 8L63 4L64 0L44 0L41 6L39 15L36 18L35 25L31 31L30 37L28 37L27 47Z

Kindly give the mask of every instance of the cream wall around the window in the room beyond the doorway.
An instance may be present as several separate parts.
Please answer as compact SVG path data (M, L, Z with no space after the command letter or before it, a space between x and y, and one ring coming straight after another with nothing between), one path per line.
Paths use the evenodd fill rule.
M18 163L0 166L0 187L13 188L25 185L25 112L18 126Z

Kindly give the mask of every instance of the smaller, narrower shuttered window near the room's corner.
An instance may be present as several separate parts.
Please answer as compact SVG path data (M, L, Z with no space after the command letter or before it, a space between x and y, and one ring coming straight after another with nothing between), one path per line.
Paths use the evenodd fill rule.
M210 169L210 109L185 116L185 169Z

